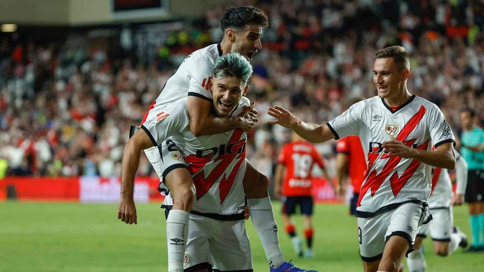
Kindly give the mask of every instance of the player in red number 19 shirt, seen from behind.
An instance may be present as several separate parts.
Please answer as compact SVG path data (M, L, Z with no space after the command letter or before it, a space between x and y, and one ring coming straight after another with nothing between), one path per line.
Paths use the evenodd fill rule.
M322 170L323 175L331 183L324 167L323 158L316 147L303 140L296 133L291 135L292 141L282 146L281 154L278 157L278 165L274 177L275 196L282 195L282 221L286 233L291 238L294 251L297 255L304 254L306 257L313 257L313 197L312 170L317 164ZM331 183L332 184L332 183ZM296 206L300 207L302 220L304 222L304 236L307 242L307 250L302 250L301 238L296 235L296 227L291 220L291 215L296 213Z

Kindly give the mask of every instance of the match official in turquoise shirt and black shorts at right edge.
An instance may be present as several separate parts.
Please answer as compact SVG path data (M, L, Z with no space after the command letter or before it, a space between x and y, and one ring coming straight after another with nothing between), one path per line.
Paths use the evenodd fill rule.
M469 169L465 202L469 206L472 232L472 245L467 252L484 251L484 130L477 123L473 110L461 112L461 154Z

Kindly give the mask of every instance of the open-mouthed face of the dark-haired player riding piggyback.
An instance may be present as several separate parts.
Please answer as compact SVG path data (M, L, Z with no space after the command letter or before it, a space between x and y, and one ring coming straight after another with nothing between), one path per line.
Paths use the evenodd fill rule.
M234 36L230 52L238 52L248 60L252 60L254 54L262 48L262 27L256 24L249 24L242 29L232 30Z

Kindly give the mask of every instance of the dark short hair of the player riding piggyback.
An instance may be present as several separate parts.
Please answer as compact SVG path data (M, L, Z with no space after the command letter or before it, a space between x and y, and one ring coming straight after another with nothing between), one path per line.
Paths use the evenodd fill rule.
M265 29L269 27L269 20L260 8L253 6L227 8L220 19L222 32L229 27L243 28L249 24L256 24Z

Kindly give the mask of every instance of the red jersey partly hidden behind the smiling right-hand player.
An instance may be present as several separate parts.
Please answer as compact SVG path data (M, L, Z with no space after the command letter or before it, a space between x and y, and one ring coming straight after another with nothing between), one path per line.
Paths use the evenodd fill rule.
M348 166L346 169L348 169L351 185L353 185L353 193L360 193L360 187L362 187L366 171L366 160L360 137L347 136L339 139L336 151L348 155Z

